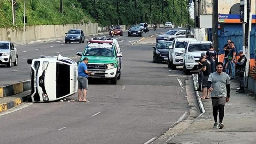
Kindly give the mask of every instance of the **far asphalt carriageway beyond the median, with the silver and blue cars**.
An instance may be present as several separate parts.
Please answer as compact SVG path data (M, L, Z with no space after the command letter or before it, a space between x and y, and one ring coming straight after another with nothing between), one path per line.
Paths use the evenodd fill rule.
M168 30L168 28L157 29L156 31L150 29L146 34L143 33L143 37L157 33L164 33ZM93 37L95 36L88 36L86 39L91 39ZM131 44L141 39L141 37L137 36L128 37L128 32L124 32L124 36L115 36L114 38L117 38L120 46ZM65 44L64 41L48 41L35 44L17 45L15 47L18 50L19 56L18 66L13 66L12 64L11 68L7 68L6 65L0 65L0 86L30 79L30 64L27 64L27 59L40 58L41 56L57 56L58 54L67 57L76 57L76 52L83 51L86 44L87 42L84 44Z

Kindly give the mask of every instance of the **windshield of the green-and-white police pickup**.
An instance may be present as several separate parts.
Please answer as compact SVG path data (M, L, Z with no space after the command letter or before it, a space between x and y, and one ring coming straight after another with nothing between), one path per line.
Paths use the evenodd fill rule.
M113 57L113 47L105 46L87 46L84 52L85 56L104 56L104 57Z

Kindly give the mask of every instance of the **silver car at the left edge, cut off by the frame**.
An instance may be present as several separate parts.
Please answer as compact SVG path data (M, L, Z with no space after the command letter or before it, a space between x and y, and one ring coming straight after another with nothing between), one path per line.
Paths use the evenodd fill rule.
M18 65L18 52L12 42L0 41L0 64L7 65L11 68Z

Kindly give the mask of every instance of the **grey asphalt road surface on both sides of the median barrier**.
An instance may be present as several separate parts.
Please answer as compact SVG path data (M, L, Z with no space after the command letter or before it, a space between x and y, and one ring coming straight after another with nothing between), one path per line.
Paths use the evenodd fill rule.
M164 31L167 30L158 29L147 35ZM121 39L129 44L140 37ZM29 65L22 59L32 54L38 57L61 51L72 57L76 51L83 50L83 44L60 44L63 42L19 46L21 52L26 52L19 53L20 65L12 67L19 69L16 78L29 77ZM157 138L188 113L190 107L184 87L188 77L181 69L171 70L167 64L152 63L152 46L141 41L122 47L121 79L117 85L91 81L87 94L90 102L33 103L0 116L0 143L146 144ZM42 50L35 50L38 48ZM15 75L10 72L12 68L5 74ZM77 99L77 94L68 99Z

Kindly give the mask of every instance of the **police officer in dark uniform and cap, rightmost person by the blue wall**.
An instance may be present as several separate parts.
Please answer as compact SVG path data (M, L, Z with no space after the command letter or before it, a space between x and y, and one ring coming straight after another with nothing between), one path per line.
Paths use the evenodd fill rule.
M244 86L245 86L244 72L245 72L245 66L246 66L247 59L242 50L238 51L237 53L240 56L240 58L234 62L236 64L236 68L237 68L237 74L238 74L239 82L240 82L240 89L236 92L242 93L242 92L244 92Z

